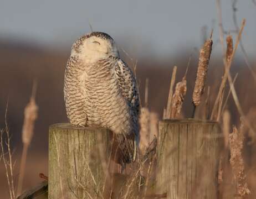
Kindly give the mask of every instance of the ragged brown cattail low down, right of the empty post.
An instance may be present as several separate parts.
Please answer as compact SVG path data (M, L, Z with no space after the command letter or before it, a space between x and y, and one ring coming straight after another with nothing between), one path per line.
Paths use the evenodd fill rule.
M246 182L246 176L244 174L244 161L242 156L243 142L244 134L242 123L239 131L236 127L233 127L233 132L229 135L229 145L231 150L230 163L232 166L234 180L237 185L237 195L240 197L250 194L250 190Z

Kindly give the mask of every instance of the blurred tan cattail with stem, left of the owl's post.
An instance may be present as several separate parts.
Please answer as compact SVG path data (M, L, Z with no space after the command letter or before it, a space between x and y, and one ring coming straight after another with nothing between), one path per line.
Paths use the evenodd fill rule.
M23 149L22 149L21 167L19 170L17 195L20 195L22 193L22 184L23 184L24 173L25 173L25 163L27 160L28 146L34 134L34 123L38 115L38 106L35 103L36 89L37 89L37 85L36 83L34 83L33 89L32 89L32 96L30 97L30 101L24 109L24 122L22 127Z

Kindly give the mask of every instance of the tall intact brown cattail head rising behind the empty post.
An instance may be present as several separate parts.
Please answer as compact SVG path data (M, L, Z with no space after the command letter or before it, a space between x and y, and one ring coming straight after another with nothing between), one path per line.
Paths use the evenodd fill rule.
M196 83L194 85L193 92L193 104L194 106L198 106L201 102L201 96L203 94L204 82L206 81L206 75L209 65L209 59L212 51L212 36L208 39L203 48L200 50L199 62L197 67L197 78Z

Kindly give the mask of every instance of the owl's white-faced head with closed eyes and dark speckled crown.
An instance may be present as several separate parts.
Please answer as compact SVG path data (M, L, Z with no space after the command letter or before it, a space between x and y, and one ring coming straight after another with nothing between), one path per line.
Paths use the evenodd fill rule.
M119 57L119 51L111 36L102 32L92 32L75 41L71 55L76 55L86 62L95 62L110 55Z

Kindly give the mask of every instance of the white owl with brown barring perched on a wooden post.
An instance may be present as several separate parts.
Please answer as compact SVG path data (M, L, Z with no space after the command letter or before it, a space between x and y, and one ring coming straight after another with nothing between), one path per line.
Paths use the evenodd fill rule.
M122 168L135 160L139 92L110 35L92 32L75 41L65 67L64 101L71 124L114 133Z

